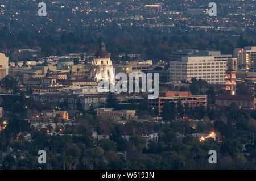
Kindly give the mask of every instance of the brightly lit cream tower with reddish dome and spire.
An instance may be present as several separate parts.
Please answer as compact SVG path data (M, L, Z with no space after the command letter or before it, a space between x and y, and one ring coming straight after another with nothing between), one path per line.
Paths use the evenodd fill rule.
M95 53L95 58L92 61L93 71L92 77L97 82L101 80L114 79L114 71L112 61L110 60L109 53L105 49L105 43L101 40L100 49Z

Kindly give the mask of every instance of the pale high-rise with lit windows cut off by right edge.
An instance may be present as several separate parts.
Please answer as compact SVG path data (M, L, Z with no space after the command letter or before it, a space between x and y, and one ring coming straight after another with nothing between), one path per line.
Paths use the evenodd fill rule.
M256 46L235 48L233 57L237 58L238 65L245 65L246 70L256 70Z

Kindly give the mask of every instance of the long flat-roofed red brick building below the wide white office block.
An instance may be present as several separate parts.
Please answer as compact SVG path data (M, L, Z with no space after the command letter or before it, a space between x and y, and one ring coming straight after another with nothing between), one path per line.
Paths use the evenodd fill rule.
M159 92L159 97L156 99L148 99L148 104L152 109L157 109L158 114L164 107L164 102L174 102L177 106L177 102L181 100L183 107L196 107L196 106L207 106L207 95L192 95L191 92Z

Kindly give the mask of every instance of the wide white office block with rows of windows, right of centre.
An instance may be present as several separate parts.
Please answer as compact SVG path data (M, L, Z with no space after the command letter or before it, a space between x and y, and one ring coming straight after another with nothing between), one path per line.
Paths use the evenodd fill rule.
M221 58L222 57L222 58ZM225 83L228 56L182 57L181 61L170 62L170 83L189 81L195 77L212 84Z

